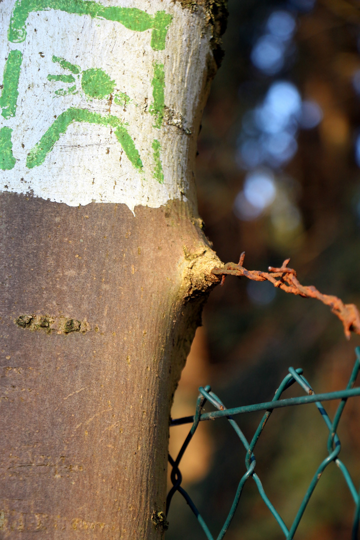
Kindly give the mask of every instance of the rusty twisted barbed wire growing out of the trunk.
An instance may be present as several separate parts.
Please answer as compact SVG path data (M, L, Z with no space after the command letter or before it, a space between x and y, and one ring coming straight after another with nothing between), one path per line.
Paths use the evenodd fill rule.
M360 313L355 304L344 304L337 296L322 294L313 285L301 285L297 279L295 270L288 267L290 259L284 260L280 268L269 266L269 272L261 272L244 268L242 266L244 257L245 252L243 251L237 264L235 262L227 262L223 268L215 267L212 269L214 275L221 276L221 285L223 285L227 275L236 275L239 278L245 276L253 281L270 281L274 287L282 289L286 293L300 295L303 298L316 298L329 306L332 313L343 323L344 333L348 340L351 337L351 332L360 335Z

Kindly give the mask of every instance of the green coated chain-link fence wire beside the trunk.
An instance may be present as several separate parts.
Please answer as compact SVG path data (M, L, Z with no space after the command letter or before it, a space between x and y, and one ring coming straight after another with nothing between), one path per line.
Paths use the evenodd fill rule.
M171 481L172 481L173 487L170 489L167 496L166 513L168 513L173 495L175 494L176 491L178 491L184 497L185 501L187 502L187 504L193 511L196 518L198 519L199 525L202 528L203 532L205 533L206 538L208 540L215 540L215 538L216 540L222 540L222 538L225 536L226 531L228 530L229 525L232 522L232 519L234 517L237 505L239 504L239 501L240 501L244 484L247 482L247 480L249 480L249 478L253 478L256 484L256 487L259 490L260 496L262 497L264 503L267 505L271 514L273 514L274 518L276 519L276 522L279 524L279 527L282 531L284 538L286 538L287 540L292 540L294 538L298 525L300 524L300 521L304 514L305 508L307 507L307 504L310 500L310 497L311 495L313 495L313 492L316 488L316 484L318 483L321 475L323 474L324 470L328 467L328 465L332 462L335 462L337 467L341 470L345 478L345 482L348 485L348 488L350 490L351 496L354 499L355 514L354 514L354 522L352 525L351 540L357 540L359 520L360 520L360 494L358 490L356 489L354 482L352 482L351 480L351 476L349 474L348 469L345 467L344 463L341 460L339 460L338 455L341 450L341 442L336 433L339 421L341 419L341 415L345 407L345 403L347 402L348 398L352 396L360 396L360 387L354 388L356 377L360 370L360 347L357 347L355 349L355 354L356 354L355 365L354 365L354 368L352 369L352 373L351 373L347 388L339 392L315 394L314 390L311 388L310 384L303 376L303 370L294 369L291 367L289 368L289 374L283 379L279 388L276 390L273 400L265 402L265 403L257 403L254 405L249 405L249 406L244 406L244 407L235 407L232 409L226 409L226 407L221 402L219 397L216 396L216 394L214 394L214 392L211 391L210 386L200 387L199 388L200 394L196 401L196 408L195 408L194 416L186 416L183 418L171 420L171 423L170 423L171 426L179 426L180 424L192 423L192 426L184 441L184 444L182 444L182 447L176 459L174 460L170 455L168 456L169 463L171 464L171 467L172 467ZM297 383L304 390L306 395L301 396L301 397L292 397L290 399L280 399L284 390L289 388L294 383ZM337 407L333 421L330 420L327 412L325 411L322 405L323 401L330 401L330 400L341 400ZM212 411L210 413L201 414L201 409L203 408L206 402L211 403L218 410ZM328 437L328 443L327 443L328 457L326 457L322 461L322 463L318 466L313 476L313 479L310 482L308 490L305 493L305 496L302 500L300 508L297 511L295 519L293 523L291 524L291 527L288 528L286 523L284 523L283 519L281 518L279 512L277 512L273 504L271 504L269 498L267 497L263 489L259 476L257 476L257 474L255 473L256 460L255 460L255 455L254 455L254 448L274 409L280 408L280 407L289 407L293 405L306 404L306 403L316 404L316 407L318 411L320 412L322 419L324 420L327 428L329 429L329 437ZM259 423L259 426L257 427L255 431L252 441L249 443L246 437L244 436L244 434L242 433L240 427L237 425L236 421L234 420L233 416L238 415L238 414L243 414L243 413L251 413L257 410L264 410L266 412L264 413ZM239 482L239 485L237 486L234 501L233 501L232 507L230 508L226 521L223 524L223 527L221 531L219 532L219 535L214 537L212 533L210 532L209 528L207 527L207 524L203 520L202 516L200 515L200 512L196 508L191 497L185 491L185 489L181 487L182 476L179 470L179 464L180 464L182 456L184 456L184 453L188 447L189 442L191 441L196 431L196 428L198 428L199 426L199 423L201 421L213 420L213 419L221 418L221 417L226 417L230 425L234 428L237 436L239 436L240 441L246 450L246 458L245 458L246 473L242 476Z

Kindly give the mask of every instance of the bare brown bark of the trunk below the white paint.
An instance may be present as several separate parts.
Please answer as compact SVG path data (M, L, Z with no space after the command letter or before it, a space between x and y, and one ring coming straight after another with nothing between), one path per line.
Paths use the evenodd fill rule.
M206 32L202 8L192 16ZM172 396L220 263L193 182L211 58L173 156L186 160L186 199L134 215L0 194L2 538L164 535Z

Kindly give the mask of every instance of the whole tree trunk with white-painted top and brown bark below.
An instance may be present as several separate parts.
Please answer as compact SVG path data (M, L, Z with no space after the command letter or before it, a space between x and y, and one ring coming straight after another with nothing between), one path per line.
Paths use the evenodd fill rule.
M217 282L194 158L226 10L102 1L0 6L2 538L162 537Z

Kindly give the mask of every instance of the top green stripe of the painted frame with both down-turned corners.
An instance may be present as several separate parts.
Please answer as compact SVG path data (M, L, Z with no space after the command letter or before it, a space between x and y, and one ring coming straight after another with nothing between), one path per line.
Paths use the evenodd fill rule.
M90 0L17 0L12 11L8 38L13 43L23 42L26 37L26 19L32 11L56 9L76 15L90 15L123 24L129 30L143 32L153 29L151 46L154 50L165 49L165 38L172 16L158 11L155 16L137 8L104 6Z

